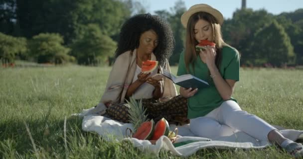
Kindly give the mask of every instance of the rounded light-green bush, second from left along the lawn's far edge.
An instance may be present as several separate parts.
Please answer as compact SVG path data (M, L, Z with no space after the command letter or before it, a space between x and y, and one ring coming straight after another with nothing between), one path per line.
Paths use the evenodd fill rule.
M29 43L29 50L37 63L64 64L74 58L69 56L69 48L64 47L63 37L57 33L40 33Z

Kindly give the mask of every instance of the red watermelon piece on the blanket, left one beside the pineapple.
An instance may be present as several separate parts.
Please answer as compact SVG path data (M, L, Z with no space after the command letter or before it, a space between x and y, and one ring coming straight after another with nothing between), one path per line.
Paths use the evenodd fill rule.
M154 122L146 121L141 124L141 126L137 129L136 133L133 135L133 138L137 138L139 140L149 140L152 138L154 131Z

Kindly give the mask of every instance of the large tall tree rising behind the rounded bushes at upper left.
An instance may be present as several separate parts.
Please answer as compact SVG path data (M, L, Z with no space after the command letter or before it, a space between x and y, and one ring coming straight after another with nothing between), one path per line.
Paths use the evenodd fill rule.
M16 4L17 21L25 37L59 33L66 44L81 39L83 26L90 23L98 24L105 35L115 35L131 14L119 0L16 0Z

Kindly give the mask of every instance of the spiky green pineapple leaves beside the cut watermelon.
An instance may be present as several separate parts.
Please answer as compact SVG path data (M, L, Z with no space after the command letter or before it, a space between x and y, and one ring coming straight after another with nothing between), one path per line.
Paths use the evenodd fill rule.
M140 125L147 121L146 109L143 108L142 99L138 103L133 96L130 97L130 101L127 100L127 103L129 105L130 123L133 124L136 132Z

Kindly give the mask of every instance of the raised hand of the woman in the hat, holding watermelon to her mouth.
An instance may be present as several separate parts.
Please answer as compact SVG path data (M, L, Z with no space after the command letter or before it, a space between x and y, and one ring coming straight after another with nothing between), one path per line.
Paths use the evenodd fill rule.
M216 49L212 46L205 46L204 50L200 50L200 58L208 67L215 66Z

